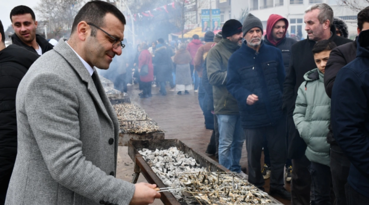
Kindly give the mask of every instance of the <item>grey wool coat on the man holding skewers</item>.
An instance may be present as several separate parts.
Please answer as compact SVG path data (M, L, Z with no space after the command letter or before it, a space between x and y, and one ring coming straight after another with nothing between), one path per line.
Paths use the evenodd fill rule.
M98 77L97 87L65 39L31 66L16 95L5 204L130 203L134 185L114 177L118 120Z

